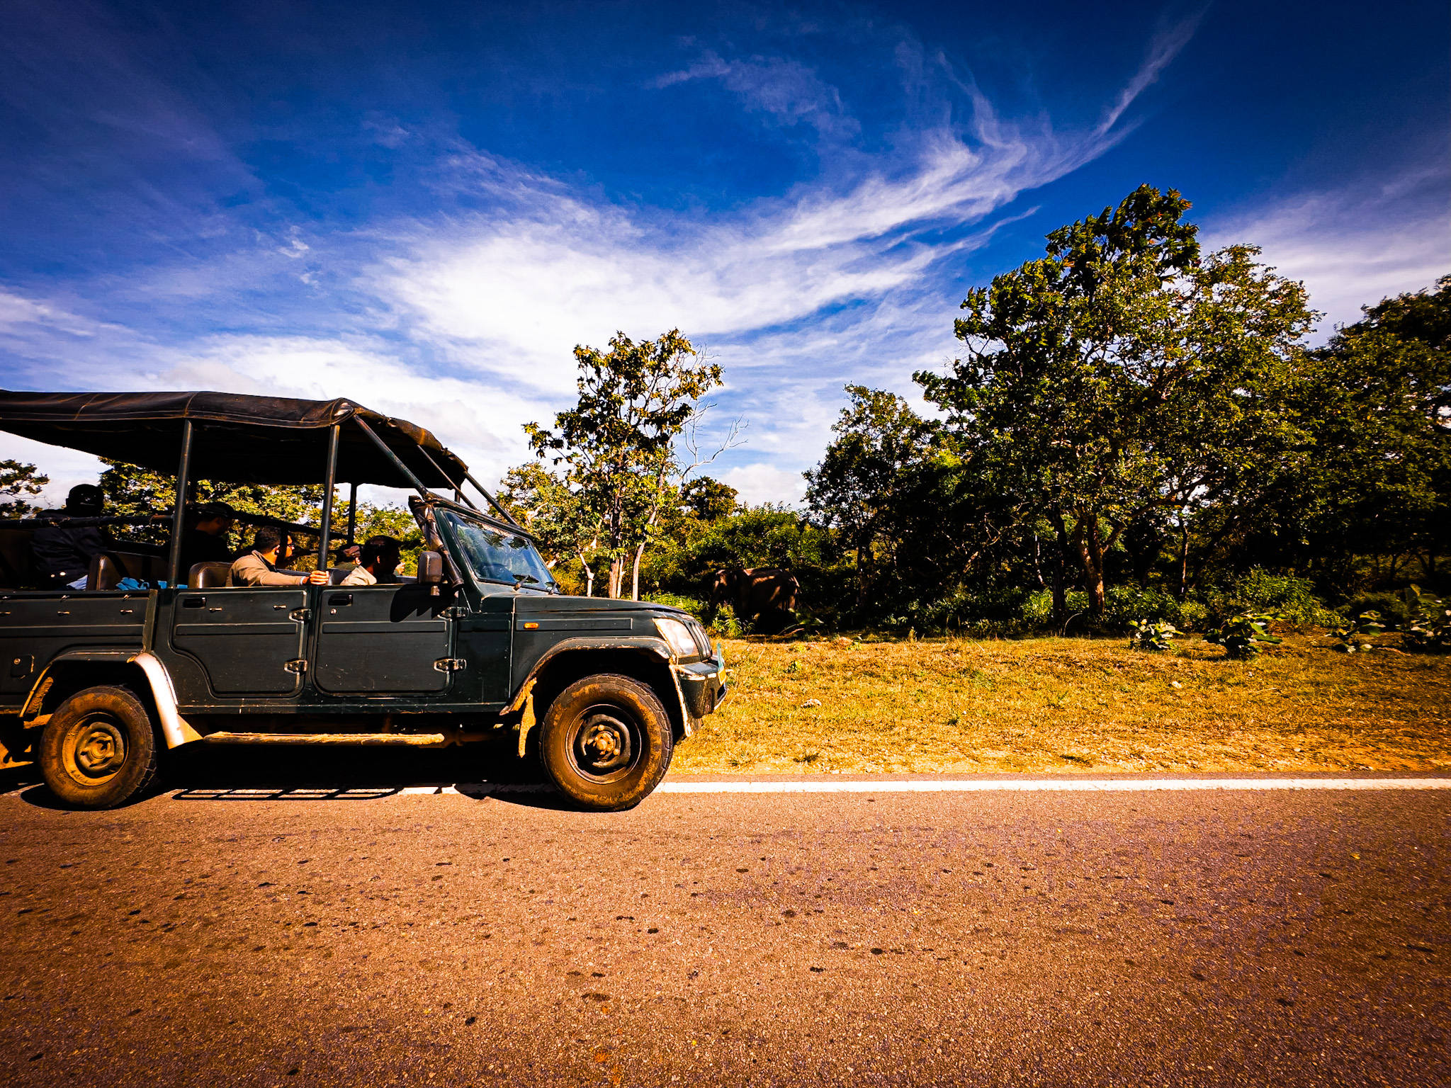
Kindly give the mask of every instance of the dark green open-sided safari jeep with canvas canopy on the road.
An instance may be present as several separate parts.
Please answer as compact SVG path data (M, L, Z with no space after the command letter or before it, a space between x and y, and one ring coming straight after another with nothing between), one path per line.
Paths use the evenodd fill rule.
M286 759L296 744L441 749L515 730L519 756L537 746L575 804L622 809L726 695L694 618L562 595L530 534L402 419L350 400L0 392L0 429L177 477L173 509L149 519L70 519L171 528L165 554L97 554L83 589L30 588L29 534L64 516L0 522L0 725L71 805L123 804L184 744L273 744ZM228 585L225 564L181 570L199 479L324 485L321 528L241 515L316 535L319 570L329 541L351 541L358 485L412 489L418 574L252 588ZM351 485L345 531L338 485Z

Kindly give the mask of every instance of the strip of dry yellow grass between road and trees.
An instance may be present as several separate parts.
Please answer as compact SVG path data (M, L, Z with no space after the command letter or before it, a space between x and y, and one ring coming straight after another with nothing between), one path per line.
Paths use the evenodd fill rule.
M1451 770L1451 659L1193 640L727 641L681 772ZM820 706L805 705L818 699Z

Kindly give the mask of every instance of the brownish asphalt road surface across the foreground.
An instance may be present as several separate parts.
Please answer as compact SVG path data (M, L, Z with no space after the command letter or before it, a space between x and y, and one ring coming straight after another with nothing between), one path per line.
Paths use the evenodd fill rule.
M1445 791L583 815L389 766L0 798L0 1082L1451 1084Z

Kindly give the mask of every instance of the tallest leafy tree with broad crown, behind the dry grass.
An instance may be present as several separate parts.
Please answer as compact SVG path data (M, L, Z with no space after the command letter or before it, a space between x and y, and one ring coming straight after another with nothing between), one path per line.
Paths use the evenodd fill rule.
M1207 506L1303 457L1287 403L1313 321L1303 286L1235 245L1200 257L1180 193L1140 186L974 289L966 354L914 377L971 463L1037 509L1103 615L1104 557L1130 525ZM1183 586L1181 586L1183 589ZM1055 588L1062 618L1062 588Z

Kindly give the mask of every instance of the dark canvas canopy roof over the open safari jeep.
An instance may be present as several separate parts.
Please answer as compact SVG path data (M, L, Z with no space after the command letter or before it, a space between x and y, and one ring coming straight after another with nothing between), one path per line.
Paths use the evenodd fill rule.
M13 393L0 390L0 431L97 457L176 473L190 419L192 479L322 483L328 437L338 434L338 483L411 487L366 424L427 487L461 486L467 466L405 419L347 399L295 400L242 393Z

